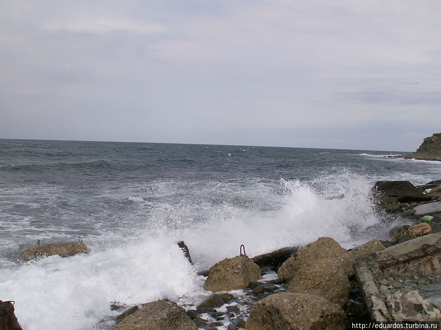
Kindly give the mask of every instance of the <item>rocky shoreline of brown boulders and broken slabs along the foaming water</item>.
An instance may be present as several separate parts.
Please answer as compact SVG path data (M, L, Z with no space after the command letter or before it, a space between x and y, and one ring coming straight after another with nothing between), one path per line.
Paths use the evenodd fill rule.
M425 237L439 237L441 244L441 179L422 186L408 181L379 181L372 187L371 196L379 216L396 224L389 232L390 240L372 240L345 250L332 238L322 237L302 248L286 247L252 259L245 255L245 248L242 254L241 248L240 255L200 273L207 277L204 289L213 294L197 306L179 300L181 306L170 300L136 306L113 304L110 308L120 314L102 320L102 329L113 327L115 321L115 330L350 329L352 323L378 320L373 298L381 300L387 309L384 314L392 315L393 320L441 321L441 301L430 296L434 290L441 292L438 254L423 256L426 259L414 262L413 268L374 278L370 288L366 287L364 273L358 266L354 268L354 263L360 264L364 258L390 249L394 253L401 247L406 250L409 242ZM51 254L68 256L64 253L73 243L66 244L56 248L42 244L24 251L23 256L28 260ZM178 244L191 263L185 243ZM80 245L73 254L88 252L82 242L74 246ZM408 301L417 303L406 305ZM2 304L9 314L0 313L0 319L12 320L13 306L10 302ZM393 306L400 306L398 314ZM408 310L409 306L418 308ZM15 322L14 327L0 329L21 328Z

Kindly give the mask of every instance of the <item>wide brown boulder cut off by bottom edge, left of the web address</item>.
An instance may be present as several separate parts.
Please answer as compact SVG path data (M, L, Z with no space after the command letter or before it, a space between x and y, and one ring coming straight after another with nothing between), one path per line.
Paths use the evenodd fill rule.
M323 297L303 293L276 293L251 308L246 330L346 329L343 309Z

